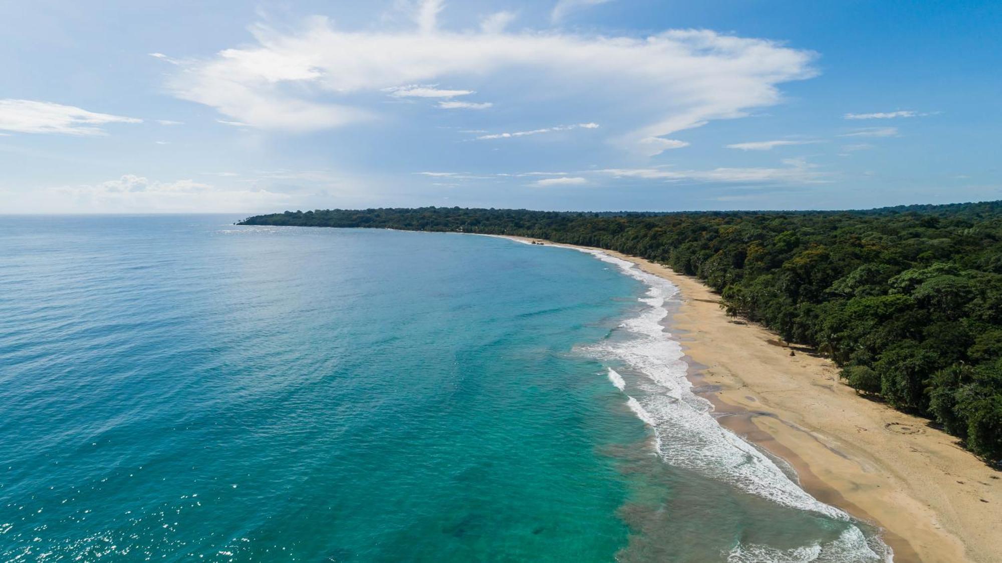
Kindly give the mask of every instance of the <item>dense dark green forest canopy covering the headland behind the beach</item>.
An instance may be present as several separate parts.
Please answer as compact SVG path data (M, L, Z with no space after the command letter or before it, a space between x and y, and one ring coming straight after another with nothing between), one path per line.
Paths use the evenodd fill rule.
M815 347L860 393L1002 461L1002 201L856 211L557 212L422 207L242 224L517 234L665 263L729 315Z

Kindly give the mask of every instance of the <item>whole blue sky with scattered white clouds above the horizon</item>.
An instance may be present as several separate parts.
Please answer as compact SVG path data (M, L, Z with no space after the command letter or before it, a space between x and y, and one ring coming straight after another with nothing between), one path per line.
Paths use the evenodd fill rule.
M997 0L0 0L0 213L1002 199Z

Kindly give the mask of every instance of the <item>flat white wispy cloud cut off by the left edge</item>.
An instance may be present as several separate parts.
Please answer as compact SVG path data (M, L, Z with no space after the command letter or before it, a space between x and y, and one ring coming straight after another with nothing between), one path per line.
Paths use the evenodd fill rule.
M91 136L107 134L100 125L141 122L134 117L95 113L72 105L0 99L0 130L4 131Z

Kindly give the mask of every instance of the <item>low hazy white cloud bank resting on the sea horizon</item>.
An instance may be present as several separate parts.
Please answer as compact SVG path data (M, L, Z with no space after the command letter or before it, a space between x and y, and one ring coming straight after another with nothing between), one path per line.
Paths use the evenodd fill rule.
M3 201L8 196L11 201ZM281 208L292 198L265 189L223 189L190 179L163 182L133 174L95 184L0 193L4 208L77 213L252 212Z

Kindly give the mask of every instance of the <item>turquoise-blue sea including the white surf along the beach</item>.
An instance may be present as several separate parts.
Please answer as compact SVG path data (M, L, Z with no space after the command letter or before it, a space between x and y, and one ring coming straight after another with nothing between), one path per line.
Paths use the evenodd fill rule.
M876 559L680 383L670 287L234 218L0 217L0 560Z

